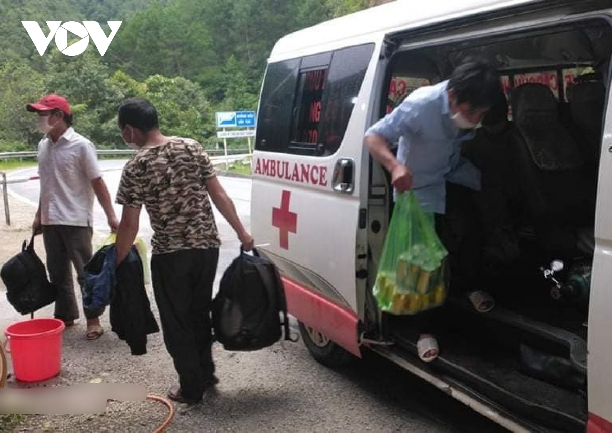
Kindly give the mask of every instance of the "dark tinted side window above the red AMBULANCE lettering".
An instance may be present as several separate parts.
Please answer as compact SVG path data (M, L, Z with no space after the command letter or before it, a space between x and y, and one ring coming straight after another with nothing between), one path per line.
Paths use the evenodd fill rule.
M255 149L334 154L344 138L374 44L268 66Z

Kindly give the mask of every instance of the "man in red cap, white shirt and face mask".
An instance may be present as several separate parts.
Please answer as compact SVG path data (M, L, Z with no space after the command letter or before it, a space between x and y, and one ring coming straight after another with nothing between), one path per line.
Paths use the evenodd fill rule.
M54 317L71 326L78 318L78 307L70 263L76 268L82 293L83 267L92 257L94 195L113 232L119 222L102 179L95 146L73 129L68 101L51 94L26 105L26 110L37 113L37 127L45 134L38 145L40 199L32 232L43 235L50 280L58 288ZM90 340L103 333L103 311L83 309Z

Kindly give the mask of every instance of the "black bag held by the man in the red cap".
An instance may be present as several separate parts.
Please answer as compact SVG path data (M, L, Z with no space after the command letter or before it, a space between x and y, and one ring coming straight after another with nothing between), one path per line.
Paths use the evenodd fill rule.
M21 314L33 314L56 299L56 287L49 282L47 269L34 252L33 235L29 244L23 241L19 254L2 265L0 277L9 303Z

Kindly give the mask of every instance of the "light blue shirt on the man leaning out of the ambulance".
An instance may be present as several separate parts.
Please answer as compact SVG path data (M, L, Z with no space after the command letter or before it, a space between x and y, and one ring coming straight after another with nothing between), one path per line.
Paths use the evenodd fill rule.
M480 170L461 156L461 141L474 132L450 118L448 81L416 89L365 133L399 140L397 159L412 171L412 190L430 212L446 213L446 181L480 190Z

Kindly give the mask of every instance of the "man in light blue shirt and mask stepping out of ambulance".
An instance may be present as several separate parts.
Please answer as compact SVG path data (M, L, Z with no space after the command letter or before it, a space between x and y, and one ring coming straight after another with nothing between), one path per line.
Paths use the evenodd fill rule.
M372 156L389 171L395 194L413 190L422 208L435 214L436 231L449 250L453 289L467 293L480 312L494 306L490 295L477 290L479 236L468 228L474 226L472 191L480 190L480 171L461 156L461 142L474 138L500 91L488 64L466 62L449 80L416 89L365 134ZM390 150L396 141L397 157ZM432 361L438 343L429 332L431 316L424 317L419 356Z

